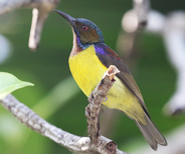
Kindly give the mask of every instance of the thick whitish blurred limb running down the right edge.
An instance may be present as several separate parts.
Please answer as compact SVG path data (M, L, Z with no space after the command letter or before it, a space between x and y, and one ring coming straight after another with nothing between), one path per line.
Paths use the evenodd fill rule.
M167 115L185 112L185 12L176 11L165 20L163 31L168 58L178 76L176 91L164 107Z

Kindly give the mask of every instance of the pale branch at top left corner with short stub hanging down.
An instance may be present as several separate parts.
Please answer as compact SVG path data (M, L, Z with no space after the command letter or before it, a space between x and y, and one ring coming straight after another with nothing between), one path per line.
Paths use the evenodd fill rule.
M43 24L59 0L8 0L0 1L0 15L19 8L34 8L29 37L29 48L37 49Z

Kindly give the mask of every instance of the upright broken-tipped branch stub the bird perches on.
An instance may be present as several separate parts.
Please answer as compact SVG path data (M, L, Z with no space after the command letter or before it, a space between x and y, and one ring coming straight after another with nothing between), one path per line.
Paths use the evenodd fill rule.
M98 138L100 136L99 114L101 105L103 100L106 99L108 91L114 84L114 76L117 73L119 73L119 70L115 66L111 65L104 74L101 82L88 98L90 103L86 107L85 114L88 123L88 133L94 145L98 145Z

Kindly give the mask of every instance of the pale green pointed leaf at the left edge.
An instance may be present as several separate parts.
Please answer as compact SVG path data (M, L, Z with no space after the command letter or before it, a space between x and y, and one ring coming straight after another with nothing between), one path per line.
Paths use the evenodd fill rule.
M20 89L26 86L33 86L33 84L21 81L10 73L0 72L0 99L15 91L16 89Z

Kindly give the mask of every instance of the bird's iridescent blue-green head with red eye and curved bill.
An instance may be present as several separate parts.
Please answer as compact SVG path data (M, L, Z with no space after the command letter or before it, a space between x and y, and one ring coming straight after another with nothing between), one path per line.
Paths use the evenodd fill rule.
M86 48L91 44L104 43L101 30L93 22L82 18L75 19L58 10L54 11L63 16L71 24L79 47Z

